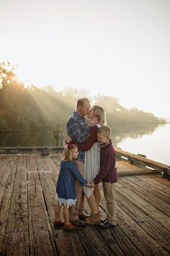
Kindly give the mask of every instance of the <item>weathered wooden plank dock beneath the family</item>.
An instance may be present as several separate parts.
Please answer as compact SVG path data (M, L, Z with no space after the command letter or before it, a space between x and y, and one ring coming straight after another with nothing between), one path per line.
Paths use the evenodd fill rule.
M121 156L117 149L117 227L64 232L53 229L62 154L1 153L0 255L170 255L170 182L162 178L169 167L151 170L147 158ZM101 192L105 218L102 185ZM85 209L90 212L87 202Z

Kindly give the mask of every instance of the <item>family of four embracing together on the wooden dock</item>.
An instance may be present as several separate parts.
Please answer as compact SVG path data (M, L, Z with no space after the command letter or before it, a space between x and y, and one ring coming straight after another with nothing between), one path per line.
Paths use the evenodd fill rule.
M73 231L86 225L113 228L116 226L117 168L104 108L91 107L88 98L80 98L66 126L70 139L66 141L56 185L58 203L54 227L63 228L63 231ZM107 205L107 218L104 220L99 213L101 182ZM90 214L84 213L85 197L91 208ZM64 221L61 221L61 207Z

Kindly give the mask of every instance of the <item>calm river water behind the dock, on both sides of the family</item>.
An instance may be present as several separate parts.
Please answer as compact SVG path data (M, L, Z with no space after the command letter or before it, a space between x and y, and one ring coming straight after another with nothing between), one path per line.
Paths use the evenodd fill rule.
M66 133L66 131L65 131ZM158 127L112 128L116 147L170 166L170 124ZM53 129L0 133L0 147L54 146Z

